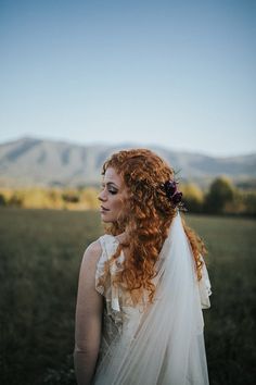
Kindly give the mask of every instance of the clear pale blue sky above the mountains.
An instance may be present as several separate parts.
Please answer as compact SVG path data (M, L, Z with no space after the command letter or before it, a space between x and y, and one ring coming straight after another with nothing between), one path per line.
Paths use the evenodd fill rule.
M0 0L0 142L256 150L256 1Z

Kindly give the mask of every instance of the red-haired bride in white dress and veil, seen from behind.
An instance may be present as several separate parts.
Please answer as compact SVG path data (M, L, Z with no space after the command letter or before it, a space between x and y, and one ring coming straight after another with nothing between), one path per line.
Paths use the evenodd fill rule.
M205 248L180 218L174 170L132 149L114 153L102 174L106 234L87 248L78 284L78 384L208 384Z

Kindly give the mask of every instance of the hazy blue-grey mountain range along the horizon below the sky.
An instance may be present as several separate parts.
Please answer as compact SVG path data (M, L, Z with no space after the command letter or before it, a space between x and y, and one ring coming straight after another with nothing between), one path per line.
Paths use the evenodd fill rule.
M79 146L72 142L23 137L0 145L0 187L88 186L99 184L101 166L114 151L141 144ZM217 175L234 182L255 181L256 153L215 158L146 146L180 171L182 179L208 184Z

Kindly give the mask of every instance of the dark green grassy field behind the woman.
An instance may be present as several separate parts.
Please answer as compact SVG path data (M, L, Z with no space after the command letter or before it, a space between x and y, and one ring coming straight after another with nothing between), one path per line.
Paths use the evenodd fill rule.
M210 384L255 384L256 222L195 215L187 222L208 248ZM1 384L75 384L79 265L101 232L94 212L0 210Z

